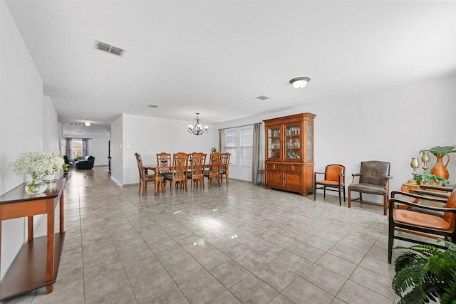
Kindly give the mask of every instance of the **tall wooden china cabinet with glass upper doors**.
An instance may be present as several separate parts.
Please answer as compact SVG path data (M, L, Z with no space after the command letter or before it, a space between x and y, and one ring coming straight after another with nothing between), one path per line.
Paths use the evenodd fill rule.
M301 113L264 120L265 187L314 192L314 117Z

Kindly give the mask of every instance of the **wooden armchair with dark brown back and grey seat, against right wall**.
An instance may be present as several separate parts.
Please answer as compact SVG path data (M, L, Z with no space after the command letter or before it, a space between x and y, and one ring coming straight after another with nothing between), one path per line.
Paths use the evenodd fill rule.
M379 160L370 160L361 162L361 171L352 174L353 180L348 186L348 208L351 207L352 201L358 201L361 204L375 204L371 201L363 201L363 193L383 196L383 214L386 215L388 198L390 194L390 163L380 162ZM358 183L356 183L358 180ZM351 198L351 192L358 192L357 199ZM377 205L377 204L375 204Z

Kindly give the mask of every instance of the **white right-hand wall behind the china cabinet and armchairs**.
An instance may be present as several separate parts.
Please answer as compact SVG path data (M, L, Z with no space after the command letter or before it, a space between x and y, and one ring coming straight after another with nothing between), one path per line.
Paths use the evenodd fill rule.
M302 94L305 98L305 89ZM316 171L324 171L326 164L344 164L349 184L351 174L359 172L359 162L383 160L391 162L390 189L398 190L412 177L411 157L420 157L418 152L423 149L456 143L455 100L456 77L450 77L387 88L355 98L314 100L302 108L224 122L215 127L235 127L272 117L313 112L316 114ZM428 167L435 163L435 157L431 157ZM455 153L451 158L454 161ZM448 170L450 182L456 183L456 164L449 164ZM230 167L229 175L241 174L236 167Z

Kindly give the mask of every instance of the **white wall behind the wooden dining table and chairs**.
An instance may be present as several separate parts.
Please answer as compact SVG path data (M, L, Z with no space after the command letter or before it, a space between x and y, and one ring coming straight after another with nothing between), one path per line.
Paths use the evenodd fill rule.
M204 152L210 154L211 147L218 145L217 130L209 126L209 133L192 135L187 132L187 123L181 120L166 120L161 118L138 115L122 115L122 123L113 122L113 176L122 184L138 183L138 165L135 152L141 154L144 164L156 164L156 154L159 152ZM122 135L116 127L123 126ZM115 139L114 139L115 137ZM214 144L214 143L217 143ZM122 156L123 167L115 157ZM122 173L120 173L122 168Z

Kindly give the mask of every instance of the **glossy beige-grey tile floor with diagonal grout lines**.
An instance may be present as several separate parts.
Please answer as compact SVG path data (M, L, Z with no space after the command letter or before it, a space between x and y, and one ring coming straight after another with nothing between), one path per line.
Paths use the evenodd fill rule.
M387 217L336 196L229 186L138 195L72 171L53 293L4 303L395 303ZM41 221L45 223L45 218ZM45 234L38 225L36 235ZM398 254L398 253L395 253Z

